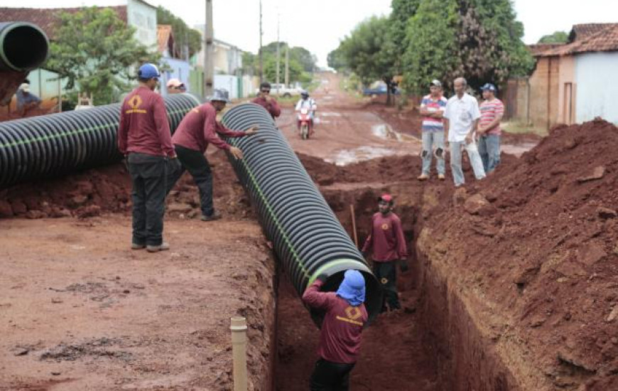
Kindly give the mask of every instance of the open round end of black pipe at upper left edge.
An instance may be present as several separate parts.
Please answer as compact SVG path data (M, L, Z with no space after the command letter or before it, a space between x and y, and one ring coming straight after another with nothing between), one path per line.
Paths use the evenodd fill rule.
M49 41L43 30L27 22L0 23L0 70L30 71L48 55Z

